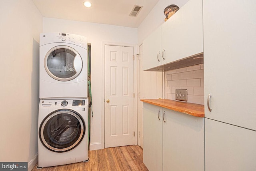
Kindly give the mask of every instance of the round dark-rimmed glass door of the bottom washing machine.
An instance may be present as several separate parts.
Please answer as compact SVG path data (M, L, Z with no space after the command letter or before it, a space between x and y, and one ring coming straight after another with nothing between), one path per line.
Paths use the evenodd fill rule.
M53 111L44 118L39 129L40 141L54 152L72 150L82 141L84 134L84 120L71 109Z

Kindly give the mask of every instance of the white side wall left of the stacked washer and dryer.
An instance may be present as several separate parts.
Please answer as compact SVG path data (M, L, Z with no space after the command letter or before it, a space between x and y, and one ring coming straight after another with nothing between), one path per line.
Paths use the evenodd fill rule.
M38 152L42 16L31 0L1 0L0 23L0 161L30 162Z

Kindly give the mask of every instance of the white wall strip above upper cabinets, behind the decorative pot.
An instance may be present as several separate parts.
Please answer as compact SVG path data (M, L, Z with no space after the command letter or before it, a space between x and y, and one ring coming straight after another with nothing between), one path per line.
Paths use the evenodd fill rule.
M143 40L156 28L164 23L164 8L175 4L181 8L188 0L159 0L156 6L151 10L148 16L138 27L138 45L142 44Z

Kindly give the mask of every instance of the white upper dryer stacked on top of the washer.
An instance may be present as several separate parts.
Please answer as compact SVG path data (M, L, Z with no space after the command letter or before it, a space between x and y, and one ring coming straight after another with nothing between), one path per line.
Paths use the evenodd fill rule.
M40 99L86 98L87 38L40 34Z

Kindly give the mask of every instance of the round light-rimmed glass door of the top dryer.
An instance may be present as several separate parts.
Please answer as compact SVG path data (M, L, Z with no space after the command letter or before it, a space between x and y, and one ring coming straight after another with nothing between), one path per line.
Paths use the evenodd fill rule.
M48 51L44 58L46 72L58 81L70 81L82 71L80 54L69 46L56 46Z

